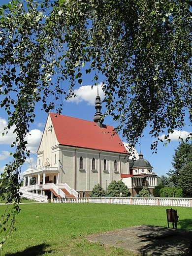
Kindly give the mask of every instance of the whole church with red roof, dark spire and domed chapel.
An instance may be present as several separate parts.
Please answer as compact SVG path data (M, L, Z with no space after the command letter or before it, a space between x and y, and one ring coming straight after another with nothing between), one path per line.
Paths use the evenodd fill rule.
M49 113L36 153L36 169L24 172L23 189L49 198L88 197L95 185L106 190L113 180L122 179L133 196L143 186L157 185L150 163L142 155L128 160L119 135L102 123L98 92L95 108L94 122ZM36 184L30 185L31 177Z

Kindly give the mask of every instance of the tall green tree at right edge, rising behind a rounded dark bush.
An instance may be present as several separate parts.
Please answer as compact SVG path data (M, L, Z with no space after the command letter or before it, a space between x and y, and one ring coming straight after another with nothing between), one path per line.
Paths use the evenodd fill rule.
M170 176L170 180L173 182L175 187L178 186L179 175L183 167L192 161L192 143L182 142L175 149L175 154L173 155L172 166L173 170L169 170L167 173Z

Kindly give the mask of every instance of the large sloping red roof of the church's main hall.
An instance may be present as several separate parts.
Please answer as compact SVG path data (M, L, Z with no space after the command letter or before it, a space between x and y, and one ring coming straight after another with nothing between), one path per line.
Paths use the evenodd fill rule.
M60 145L128 153L112 126L98 127L95 122L49 113Z

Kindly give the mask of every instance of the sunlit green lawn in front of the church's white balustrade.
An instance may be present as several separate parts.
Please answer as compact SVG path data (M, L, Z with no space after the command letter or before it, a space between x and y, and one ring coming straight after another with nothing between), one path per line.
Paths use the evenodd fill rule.
M16 228L4 243L2 256L132 256L122 249L89 243L97 232L147 224L167 226L162 206L94 203L21 204ZM0 205L0 214L5 209ZM178 228L192 229L192 208L176 207Z

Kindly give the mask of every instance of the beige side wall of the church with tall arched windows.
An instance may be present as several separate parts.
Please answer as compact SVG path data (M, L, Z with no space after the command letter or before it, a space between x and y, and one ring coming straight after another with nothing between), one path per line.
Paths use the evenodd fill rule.
M90 149L60 146L59 183L67 183L76 191L92 191L96 184L104 189L112 180L120 180L120 170L128 172L128 162L119 154L100 152ZM83 169L80 169L80 157L83 158ZM92 159L96 160L96 168L92 169ZM106 159L107 170L104 171L103 161ZM114 161L117 171L114 171ZM75 184L74 184L75 183Z

